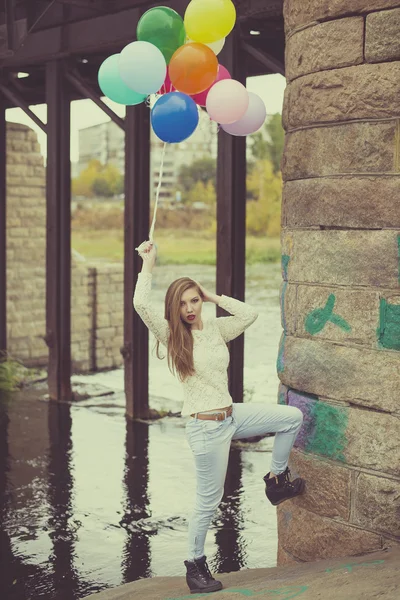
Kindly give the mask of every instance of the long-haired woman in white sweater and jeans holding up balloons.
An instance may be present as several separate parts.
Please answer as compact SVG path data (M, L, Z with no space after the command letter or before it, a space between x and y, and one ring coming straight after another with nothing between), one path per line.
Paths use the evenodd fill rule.
M134 307L155 335L157 352L160 343L167 348L168 365L182 383L182 416L189 417L186 436L196 465L196 504L189 522L189 552L184 561L186 581L191 593L214 592L222 584L210 573L204 543L224 493L231 440L276 433L271 471L264 481L268 499L277 505L304 490L304 480L291 482L287 468L303 415L291 406L233 404L228 391L227 343L254 323L256 311L233 298L212 294L183 277L168 288L163 318L151 304L156 248L151 242L144 242L138 250L143 267ZM232 316L203 320L204 302L213 302Z

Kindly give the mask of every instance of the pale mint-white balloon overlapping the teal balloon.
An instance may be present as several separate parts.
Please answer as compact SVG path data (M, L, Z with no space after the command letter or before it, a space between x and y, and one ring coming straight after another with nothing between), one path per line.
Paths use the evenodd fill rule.
M119 56L121 79L139 94L155 94L164 83L167 64L164 55L150 42L132 42Z

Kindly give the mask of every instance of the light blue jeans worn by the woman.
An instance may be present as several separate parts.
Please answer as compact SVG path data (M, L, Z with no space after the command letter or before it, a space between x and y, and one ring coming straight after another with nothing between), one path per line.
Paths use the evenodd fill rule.
M197 490L188 560L204 554L207 531L224 494L231 441L276 433L270 471L278 475L287 467L302 422L303 413L294 406L256 403L234 404L232 416L224 421L189 418L186 437L196 464Z

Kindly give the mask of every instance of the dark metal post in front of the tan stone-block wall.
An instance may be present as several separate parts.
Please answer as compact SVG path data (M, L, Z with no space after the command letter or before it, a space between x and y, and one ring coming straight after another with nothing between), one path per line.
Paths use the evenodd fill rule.
M71 393L71 166L70 99L65 66L46 65L47 247L46 342L50 398Z

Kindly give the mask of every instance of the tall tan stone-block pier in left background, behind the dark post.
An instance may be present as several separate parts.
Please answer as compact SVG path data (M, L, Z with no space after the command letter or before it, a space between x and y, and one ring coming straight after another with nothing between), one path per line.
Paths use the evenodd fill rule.
M74 371L89 368L90 274L72 265ZM11 357L27 366L47 364L46 172L37 135L7 123L7 337Z

